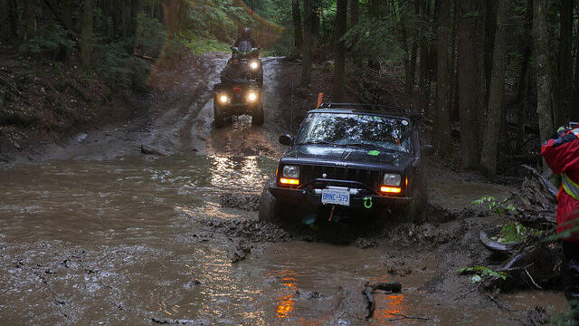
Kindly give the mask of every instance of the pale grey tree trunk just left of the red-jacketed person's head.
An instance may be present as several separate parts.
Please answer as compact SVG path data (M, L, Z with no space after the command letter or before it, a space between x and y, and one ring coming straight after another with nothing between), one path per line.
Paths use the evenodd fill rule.
M553 87L549 58L549 30L546 10L548 0L533 2L533 37L536 57L536 115L539 121L540 142L553 134ZM544 168L548 168L545 160Z

